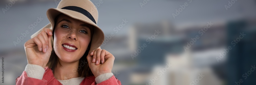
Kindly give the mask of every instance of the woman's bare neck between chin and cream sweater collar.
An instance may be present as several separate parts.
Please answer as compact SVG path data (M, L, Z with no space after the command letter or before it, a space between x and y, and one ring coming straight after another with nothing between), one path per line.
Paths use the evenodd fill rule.
M76 62L71 62L71 63L65 63L63 61L60 61L60 65L57 65L56 68L54 69L54 77L57 80L68 80L71 78L77 78L80 77L78 74L78 64L79 64L79 60Z

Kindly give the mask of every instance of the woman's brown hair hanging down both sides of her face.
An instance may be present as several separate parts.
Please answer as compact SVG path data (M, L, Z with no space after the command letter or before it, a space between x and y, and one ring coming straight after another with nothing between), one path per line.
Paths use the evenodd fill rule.
M55 26L57 25L57 19L59 18L60 14L55 18ZM55 54L54 51L54 47L53 47L53 40L54 40L54 31L55 29L52 30L52 37L51 37L51 46L52 46L52 52L51 52L51 56L49 58L49 61L47 63L46 66L48 66L48 68L52 69L52 71L54 71L54 68L59 65L62 66L59 62L59 57ZM92 41L92 35L93 35L93 29L91 29L91 41ZM92 71L88 65L87 62L87 55L90 51L90 47L91 47L91 41L88 45L88 49L86 50L86 52L84 53L84 55L79 59L79 64L78 64L78 74L81 75L81 77L88 77L88 76L93 76Z

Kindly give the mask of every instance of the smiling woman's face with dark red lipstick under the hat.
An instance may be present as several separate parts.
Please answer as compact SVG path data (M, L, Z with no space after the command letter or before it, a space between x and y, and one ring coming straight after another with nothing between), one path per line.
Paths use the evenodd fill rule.
M86 52L91 40L91 25L61 14L54 31L54 50L66 63L78 61Z

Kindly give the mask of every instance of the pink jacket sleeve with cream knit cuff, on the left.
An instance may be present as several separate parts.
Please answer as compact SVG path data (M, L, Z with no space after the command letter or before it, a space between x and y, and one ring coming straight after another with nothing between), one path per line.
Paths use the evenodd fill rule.
M47 80L42 79L44 72L43 67L28 64L22 75L16 79L16 85L46 85Z

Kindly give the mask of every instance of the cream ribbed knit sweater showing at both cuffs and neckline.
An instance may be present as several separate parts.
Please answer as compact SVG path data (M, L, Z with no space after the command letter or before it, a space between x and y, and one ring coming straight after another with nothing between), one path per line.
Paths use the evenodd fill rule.
M36 79L43 79L45 69L39 65L27 64L25 71L28 77L36 78ZM108 80L114 74L113 73L106 73L99 75L95 78L96 83L101 83L102 81ZM83 81L84 77L78 78L71 78L68 80L58 80L63 85L79 85Z

